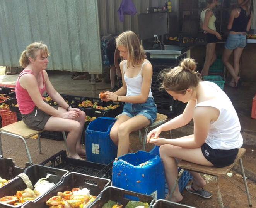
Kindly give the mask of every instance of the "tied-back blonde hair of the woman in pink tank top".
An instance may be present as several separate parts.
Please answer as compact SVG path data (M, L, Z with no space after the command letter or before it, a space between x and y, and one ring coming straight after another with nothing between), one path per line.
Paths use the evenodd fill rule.
M29 65L29 57L35 60L36 52L38 50L41 50L41 54L47 54L48 56L50 55L47 45L45 45L43 42L34 42L29 44L26 50L22 51L19 59L20 66L22 68L27 67L27 65Z

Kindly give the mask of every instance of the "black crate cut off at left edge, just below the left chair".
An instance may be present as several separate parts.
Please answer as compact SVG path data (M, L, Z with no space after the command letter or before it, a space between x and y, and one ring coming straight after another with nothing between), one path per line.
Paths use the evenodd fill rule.
M10 158L2 158L0 155L0 177L5 180L14 179L20 173L23 173L24 169L15 166L15 163Z

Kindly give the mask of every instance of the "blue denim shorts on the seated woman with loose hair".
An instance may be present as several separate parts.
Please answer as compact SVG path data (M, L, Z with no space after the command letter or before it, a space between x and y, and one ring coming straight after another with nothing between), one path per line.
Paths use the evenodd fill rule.
M130 118L136 115L143 115L150 120L151 124L157 118L157 107L155 107L154 97L148 97L145 103L125 103L122 115L129 116Z

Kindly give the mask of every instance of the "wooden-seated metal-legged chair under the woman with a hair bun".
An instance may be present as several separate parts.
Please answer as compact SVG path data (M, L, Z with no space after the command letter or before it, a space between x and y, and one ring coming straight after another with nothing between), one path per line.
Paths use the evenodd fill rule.
M245 152L246 152L246 149L239 148L239 151L238 151L238 154L237 154L237 157L236 157L234 163L232 163L230 166L223 167L223 168L215 168L213 166L203 166L203 165L190 163L188 161L181 160L178 163L178 167L181 168L181 171L179 172L176 183L175 183L174 187L171 190L171 195L174 192L174 190L177 186L177 183L179 182L179 179L181 178L181 175L182 175L184 169L186 169L186 170L189 170L189 171L194 171L194 172L197 172L197 173L203 173L203 174L214 176L215 184L216 184L216 187L217 187L218 201L220 203L220 206L224 207L223 202L222 202L221 193L220 193L220 187L218 185L218 177L225 176L230 171L230 169L236 164L236 162L239 160L240 168L241 168L241 171L242 171L242 176L243 176L243 179L244 179L244 186L245 186L246 193L247 193L248 203L249 203L249 206L252 206L249 189L248 189L247 182L246 182L246 176L244 174L244 166L242 164L242 156L244 155Z

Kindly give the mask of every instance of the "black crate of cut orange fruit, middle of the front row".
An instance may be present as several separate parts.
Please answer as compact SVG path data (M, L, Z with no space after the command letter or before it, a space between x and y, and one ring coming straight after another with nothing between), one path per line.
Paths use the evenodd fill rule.
M24 208L85 208L99 197L109 183L109 179L68 173L55 188L39 196L34 202L27 203Z

